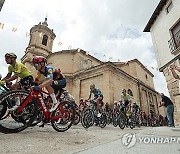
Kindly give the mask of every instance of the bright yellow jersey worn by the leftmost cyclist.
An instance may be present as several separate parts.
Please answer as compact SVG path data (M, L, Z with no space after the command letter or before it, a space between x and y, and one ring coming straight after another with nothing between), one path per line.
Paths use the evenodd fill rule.
M8 73L12 72L17 73L21 79L32 75L28 68L20 62L16 62L14 67L9 65Z

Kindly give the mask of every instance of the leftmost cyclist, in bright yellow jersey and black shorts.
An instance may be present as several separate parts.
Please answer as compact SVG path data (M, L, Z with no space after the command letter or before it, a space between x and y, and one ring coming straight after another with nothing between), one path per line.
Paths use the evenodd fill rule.
M2 79L2 81L9 85L11 83L10 81L18 80L18 77L20 78L19 82L16 82L12 86L10 86L11 90L17 90L17 89L28 89L32 83L33 83L33 77L31 72L28 70L28 68L22 64L21 62L16 62L17 56L14 53L6 53L5 54L5 60L6 63L9 64L8 66L8 74L6 77ZM12 75L12 73L14 73ZM10 111L16 110L20 105L20 98L15 98L16 104L13 106Z

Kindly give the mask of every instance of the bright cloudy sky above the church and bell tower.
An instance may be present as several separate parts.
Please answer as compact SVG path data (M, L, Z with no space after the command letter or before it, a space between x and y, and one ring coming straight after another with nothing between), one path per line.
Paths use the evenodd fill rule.
M5 0L0 12L0 73L7 73L6 52L24 55L30 28L48 17L56 38L53 52L81 48L102 61L137 58L154 74L155 89L169 95L157 71L150 33L144 33L159 0ZM12 32L17 28L16 32ZM62 45L58 45L61 42ZM103 56L103 55L106 55ZM154 68L154 69L153 69Z

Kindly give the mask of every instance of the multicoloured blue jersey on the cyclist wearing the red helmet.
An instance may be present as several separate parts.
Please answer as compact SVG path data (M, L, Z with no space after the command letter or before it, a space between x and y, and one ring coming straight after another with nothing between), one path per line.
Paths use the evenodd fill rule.
M59 69L55 69L52 66L45 66L45 72L38 71L36 80L39 81L39 79L41 78L41 74L43 74L45 77L49 78L50 80L61 80L65 78Z

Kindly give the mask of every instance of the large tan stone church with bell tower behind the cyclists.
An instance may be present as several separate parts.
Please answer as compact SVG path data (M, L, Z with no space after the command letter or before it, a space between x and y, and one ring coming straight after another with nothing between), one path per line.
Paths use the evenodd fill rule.
M105 103L112 105L120 100L125 88L146 113L150 104L154 104L156 113L164 114L164 109L158 108L160 96L154 89L154 76L138 59L126 63L102 62L79 48L52 52L55 37L47 18L31 28L30 41L21 60L34 75L33 56L45 56L49 65L61 69L67 79L66 89L77 102L88 98L89 86L94 83L102 91Z

